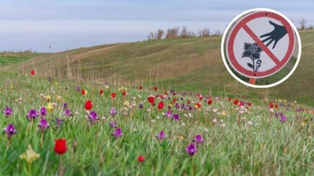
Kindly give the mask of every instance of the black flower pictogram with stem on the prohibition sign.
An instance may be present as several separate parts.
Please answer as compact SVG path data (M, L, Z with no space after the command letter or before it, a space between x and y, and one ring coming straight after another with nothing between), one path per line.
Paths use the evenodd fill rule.
M253 44L244 42L244 52L242 54L242 58L251 58L253 64L248 63L248 67L251 67L253 72L257 72L258 68L261 66L262 61L260 61L260 52L262 51L262 48L260 48L256 42Z

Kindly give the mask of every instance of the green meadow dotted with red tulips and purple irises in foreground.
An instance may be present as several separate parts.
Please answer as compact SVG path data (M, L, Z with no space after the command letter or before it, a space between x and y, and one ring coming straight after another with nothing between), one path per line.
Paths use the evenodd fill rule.
M0 78L0 175L314 175L298 102Z

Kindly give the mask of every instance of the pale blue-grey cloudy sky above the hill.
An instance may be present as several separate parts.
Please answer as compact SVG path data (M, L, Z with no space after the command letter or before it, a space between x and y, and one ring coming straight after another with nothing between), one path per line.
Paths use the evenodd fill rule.
M56 52L147 40L157 29L205 27L211 33L245 10L271 8L314 24L313 0L0 0L0 51Z

